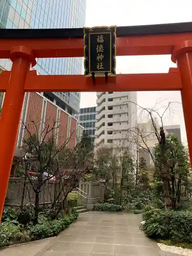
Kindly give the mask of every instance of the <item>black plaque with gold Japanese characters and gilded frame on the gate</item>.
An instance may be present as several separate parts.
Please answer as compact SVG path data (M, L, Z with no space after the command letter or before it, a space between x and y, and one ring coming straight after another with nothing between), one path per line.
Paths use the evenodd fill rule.
M84 75L116 75L116 26L84 28Z

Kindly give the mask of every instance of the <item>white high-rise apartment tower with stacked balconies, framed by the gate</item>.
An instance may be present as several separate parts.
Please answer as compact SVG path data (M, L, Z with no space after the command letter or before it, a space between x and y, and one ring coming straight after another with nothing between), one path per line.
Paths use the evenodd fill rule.
M96 148L134 150L129 129L137 126L136 92L99 92L96 107Z

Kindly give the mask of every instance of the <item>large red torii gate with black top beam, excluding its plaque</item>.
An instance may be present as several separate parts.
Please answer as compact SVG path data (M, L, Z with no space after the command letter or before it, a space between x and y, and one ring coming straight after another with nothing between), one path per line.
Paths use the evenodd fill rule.
M13 61L0 76L6 92L0 118L0 219L14 155L25 92L181 91L192 162L192 23L117 27L117 56L171 54L178 68L167 74L37 75L35 58L83 57L83 29L0 29L0 58Z

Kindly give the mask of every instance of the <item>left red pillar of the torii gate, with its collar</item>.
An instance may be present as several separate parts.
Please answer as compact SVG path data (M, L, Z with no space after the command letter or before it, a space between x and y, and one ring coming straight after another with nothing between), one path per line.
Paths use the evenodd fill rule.
M25 81L31 65L36 65L35 57L31 49L23 46L12 48L10 59L13 61L9 85L6 90L3 110L0 118L0 217L7 193L11 164L14 156L20 115L25 97ZM1 219L1 218L0 218Z

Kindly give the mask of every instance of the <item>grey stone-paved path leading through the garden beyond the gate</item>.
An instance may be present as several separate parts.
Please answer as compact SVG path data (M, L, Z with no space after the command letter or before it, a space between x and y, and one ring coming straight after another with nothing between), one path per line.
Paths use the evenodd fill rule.
M29 244L0 250L1 256L177 256L164 254L139 229L140 215L88 212L56 238L29 253ZM42 240L45 241L45 240ZM35 248L40 241L33 242ZM28 246L28 247L26 247ZM26 248L25 248L26 247Z

